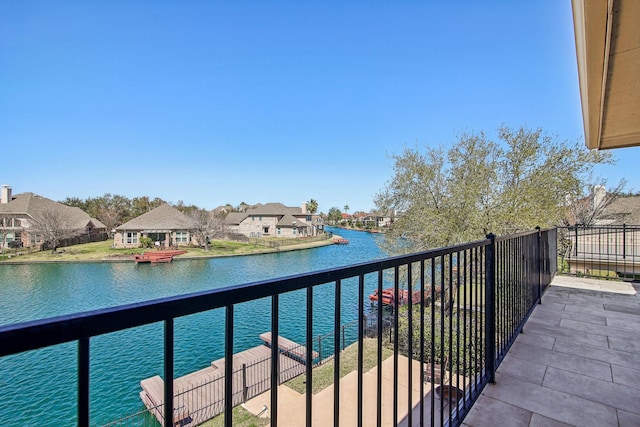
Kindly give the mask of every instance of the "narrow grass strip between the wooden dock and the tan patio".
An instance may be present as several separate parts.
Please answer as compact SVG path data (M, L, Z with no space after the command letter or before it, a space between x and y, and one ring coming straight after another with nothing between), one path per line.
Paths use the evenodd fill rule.
M378 340L375 338L364 339L364 371L368 371L378 364L377 359L377 346ZM393 350L382 346L382 359L393 355ZM340 353L340 378L344 377L350 372L358 369L358 343L351 344ZM320 365L312 371L313 379L313 394L327 388L333 384L333 360ZM298 393L304 394L306 392L306 377L300 375L287 383L287 386L291 387Z

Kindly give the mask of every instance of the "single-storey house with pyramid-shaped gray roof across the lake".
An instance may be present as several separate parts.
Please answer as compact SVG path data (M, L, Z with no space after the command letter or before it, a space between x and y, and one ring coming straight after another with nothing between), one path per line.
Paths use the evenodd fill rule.
M194 225L193 219L165 203L116 227L113 246L137 248L142 237L151 238L161 247L195 244L191 233Z

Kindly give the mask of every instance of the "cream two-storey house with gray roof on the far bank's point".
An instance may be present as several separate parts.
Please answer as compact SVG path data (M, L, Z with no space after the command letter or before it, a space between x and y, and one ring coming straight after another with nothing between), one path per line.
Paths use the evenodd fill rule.
M245 212L230 212L225 218L227 230L247 237L306 237L324 232L319 215L307 212L306 203L301 207L282 203L257 204Z

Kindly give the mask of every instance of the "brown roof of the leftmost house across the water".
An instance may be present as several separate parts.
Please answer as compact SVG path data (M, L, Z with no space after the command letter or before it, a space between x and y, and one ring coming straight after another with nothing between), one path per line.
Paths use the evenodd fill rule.
M106 226L78 207L55 202L34 193L15 195L10 202L0 204L0 214L24 215L37 218L44 212L59 212L70 229L106 228Z

